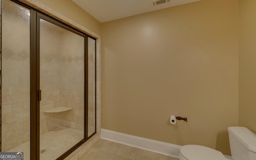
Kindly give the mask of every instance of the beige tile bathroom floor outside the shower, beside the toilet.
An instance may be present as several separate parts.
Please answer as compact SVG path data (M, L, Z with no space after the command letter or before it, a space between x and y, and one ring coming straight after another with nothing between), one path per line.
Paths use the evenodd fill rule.
M178 158L165 156L126 146L116 142L100 139L79 160L179 160Z

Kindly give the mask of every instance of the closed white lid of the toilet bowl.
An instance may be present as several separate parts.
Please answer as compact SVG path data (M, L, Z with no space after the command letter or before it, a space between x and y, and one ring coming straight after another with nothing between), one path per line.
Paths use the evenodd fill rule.
M199 145L186 145L180 148L180 154L187 160L227 160L223 154L212 148Z

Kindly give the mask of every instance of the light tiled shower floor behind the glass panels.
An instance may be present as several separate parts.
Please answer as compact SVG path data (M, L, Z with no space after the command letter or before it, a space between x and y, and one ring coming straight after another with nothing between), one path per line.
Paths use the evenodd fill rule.
M59 126L40 135L40 160L55 160L64 152L72 148L82 138L81 130L66 126ZM30 160L30 141L24 142L5 152L24 152L24 160Z

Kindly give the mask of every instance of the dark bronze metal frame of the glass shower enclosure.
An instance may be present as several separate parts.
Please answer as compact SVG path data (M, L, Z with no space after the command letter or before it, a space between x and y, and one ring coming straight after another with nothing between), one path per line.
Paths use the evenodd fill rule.
M95 132L88 137L88 37L96 38L77 30L60 22L59 20L36 10L35 8L24 4L18 0L10 0L30 10L30 160L40 160L40 18L46 20L52 24L60 26L70 32L78 34L84 37L84 138L80 140L75 146L64 152L57 160L63 160L76 148L81 146L86 140L96 134L96 98L95 98ZM1 2L2 4L2 2ZM2 7L2 6L1 6ZM2 12L2 10L1 10ZM2 15L2 14L1 14ZM2 21L2 18L1 18ZM2 24L2 22L1 22ZM2 28L1 28L2 30ZM1 34L2 42L2 34ZM95 43L95 54L96 54L96 43ZM2 53L2 45L1 45ZM2 56L2 54L1 54ZM1 58L2 61L2 58ZM2 69L2 66L1 66ZM1 75L2 82L2 75ZM0 84L2 88L2 83ZM95 55L95 96L96 96L96 55ZM2 103L2 92L1 103ZM2 112L1 112L2 120ZM1 136L2 138L2 126ZM2 143L1 143L2 145ZM2 151L2 147L1 147Z

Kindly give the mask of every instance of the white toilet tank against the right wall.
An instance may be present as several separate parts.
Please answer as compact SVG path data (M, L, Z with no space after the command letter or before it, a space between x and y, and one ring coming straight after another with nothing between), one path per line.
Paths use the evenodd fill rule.
M256 134L245 127L228 127L232 158L256 160Z

